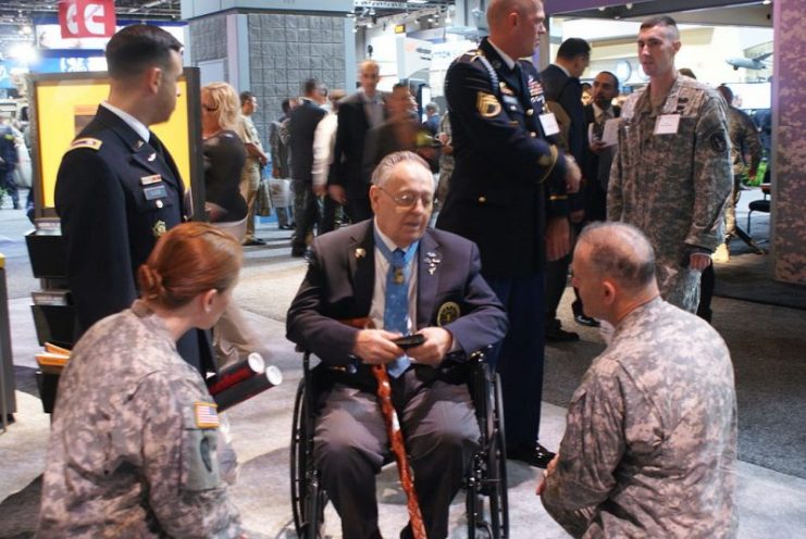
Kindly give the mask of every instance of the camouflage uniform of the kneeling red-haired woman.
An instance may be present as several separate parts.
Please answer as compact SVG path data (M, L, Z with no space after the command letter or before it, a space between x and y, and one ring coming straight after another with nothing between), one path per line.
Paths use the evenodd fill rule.
M145 304L94 325L59 386L38 537L240 535L211 402Z

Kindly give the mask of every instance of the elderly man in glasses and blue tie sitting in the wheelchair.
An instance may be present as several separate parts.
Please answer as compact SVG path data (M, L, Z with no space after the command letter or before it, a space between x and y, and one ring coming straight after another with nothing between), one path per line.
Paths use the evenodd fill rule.
M287 335L321 358L331 380L313 457L343 536L381 537L374 475L389 450L371 366L386 365L427 536L444 538L480 435L467 385L437 367L448 354L464 359L499 341L507 318L480 274L475 245L427 228L427 164L412 152L389 154L372 184L373 220L314 240ZM371 323L343 322L356 318ZM404 351L395 339L408 334L424 341ZM411 537L408 527L401 537Z

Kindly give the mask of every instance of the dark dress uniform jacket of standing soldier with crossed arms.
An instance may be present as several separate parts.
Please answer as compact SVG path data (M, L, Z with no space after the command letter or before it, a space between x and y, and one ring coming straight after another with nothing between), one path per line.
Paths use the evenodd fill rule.
M485 38L445 79L456 166L436 225L478 243L484 275L504 278L541 271L545 217L568 214L565 156L538 120L540 76L519 64L520 74Z

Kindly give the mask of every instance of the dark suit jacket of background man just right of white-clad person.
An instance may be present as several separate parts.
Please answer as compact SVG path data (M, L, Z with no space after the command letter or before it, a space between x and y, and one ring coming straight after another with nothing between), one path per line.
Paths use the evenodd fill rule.
M338 106L338 127L328 183L344 187L347 198L367 198L368 178L361 174L364 138L370 128L361 92L347 96Z

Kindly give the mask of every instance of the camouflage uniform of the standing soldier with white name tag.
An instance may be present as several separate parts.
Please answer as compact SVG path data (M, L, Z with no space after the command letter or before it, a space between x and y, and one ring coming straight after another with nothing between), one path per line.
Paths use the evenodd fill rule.
M654 135L665 114L680 116L677 134ZM710 254L722 242L732 184L726 105L715 90L679 76L655 110L648 87L630 96L610 172L608 218L647 235L664 299L686 311L699 302L699 272L687 267L689 256Z

